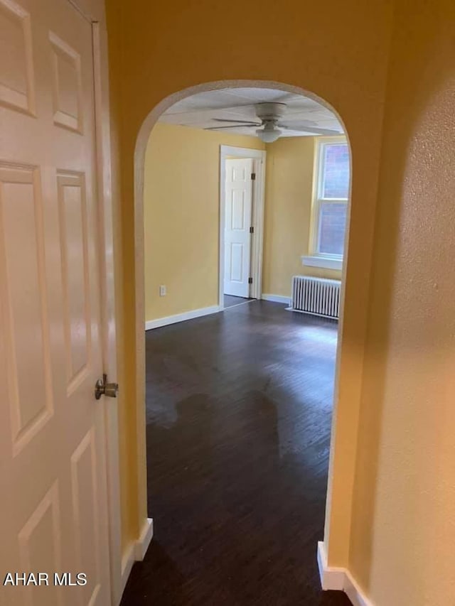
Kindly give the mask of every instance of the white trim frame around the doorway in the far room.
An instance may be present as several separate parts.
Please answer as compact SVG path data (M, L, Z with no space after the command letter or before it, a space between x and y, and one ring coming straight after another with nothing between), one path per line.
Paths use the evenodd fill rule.
M232 147L220 145L220 232L219 232L219 278L218 305L220 310L224 305L225 282L225 210L226 210L226 160L235 158L252 158L253 172L256 178L252 186L251 224L254 229L251 242L250 276L253 279L250 286L250 297L260 299L262 295L262 254L264 243L264 207L265 207L265 161L267 152L260 149Z

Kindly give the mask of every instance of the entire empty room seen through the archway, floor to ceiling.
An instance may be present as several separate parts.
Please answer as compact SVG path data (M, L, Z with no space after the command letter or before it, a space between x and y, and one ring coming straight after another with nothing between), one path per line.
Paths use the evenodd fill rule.
M143 592L182 605L274 602L291 584L287 599L316 599L349 176L340 121L286 90L194 94L152 129L144 291L156 531L124 604ZM148 566L160 570L152 585Z

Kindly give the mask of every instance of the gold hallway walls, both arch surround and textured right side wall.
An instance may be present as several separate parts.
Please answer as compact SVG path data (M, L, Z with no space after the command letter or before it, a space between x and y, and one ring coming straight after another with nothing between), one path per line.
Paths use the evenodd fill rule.
M453 604L453 1L289 0L283 11L272 0L109 0L107 8L122 120L125 507L134 510L144 477L135 455L143 423L133 179L141 124L168 95L203 82L301 87L341 114L353 159L328 563L348 566L375 606ZM141 497L125 540L146 514Z

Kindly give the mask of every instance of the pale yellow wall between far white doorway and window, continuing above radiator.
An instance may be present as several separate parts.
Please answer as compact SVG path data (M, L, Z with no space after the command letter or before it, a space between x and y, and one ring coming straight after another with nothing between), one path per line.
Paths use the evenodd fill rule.
M341 271L302 266L310 254L315 137L267 145L262 292L288 296L292 276L341 279Z

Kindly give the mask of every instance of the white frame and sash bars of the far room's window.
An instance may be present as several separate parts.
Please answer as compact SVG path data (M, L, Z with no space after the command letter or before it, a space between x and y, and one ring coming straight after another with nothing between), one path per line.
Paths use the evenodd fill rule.
M343 262L343 254L328 254L319 251L319 234L321 229L321 207L324 202L334 202L346 204L346 210L348 210L348 204L350 200L350 183L348 198L321 198L322 193L322 180L323 180L323 154L324 149L327 145L339 145L349 144L346 136L323 136L317 137L315 140L315 151L314 151L314 173L313 173L313 193L311 200L311 222L310 222L310 247L309 252L313 259L327 259L328 261L336 261L338 263ZM348 212L346 212L348 221ZM348 226L346 225L346 229ZM346 242L346 240L345 240ZM306 257L308 259L308 257Z

